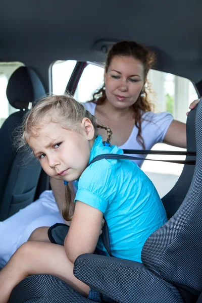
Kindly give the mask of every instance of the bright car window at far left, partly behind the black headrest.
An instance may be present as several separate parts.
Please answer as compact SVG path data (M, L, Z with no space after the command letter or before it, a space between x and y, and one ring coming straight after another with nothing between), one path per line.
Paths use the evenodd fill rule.
M24 64L22 62L0 62L0 127L12 113L18 111L9 104L6 89L11 75L20 66L24 66Z

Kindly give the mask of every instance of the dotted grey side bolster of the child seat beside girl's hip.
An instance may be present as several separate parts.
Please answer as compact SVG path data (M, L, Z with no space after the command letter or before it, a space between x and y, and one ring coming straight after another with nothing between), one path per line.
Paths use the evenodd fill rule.
M138 262L84 254L74 264L74 275L116 302L183 302L173 285L155 276Z

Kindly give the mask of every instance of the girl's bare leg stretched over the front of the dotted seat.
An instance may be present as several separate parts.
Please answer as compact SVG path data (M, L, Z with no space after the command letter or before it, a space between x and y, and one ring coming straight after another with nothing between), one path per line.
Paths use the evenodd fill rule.
M35 274L54 275L87 297L89 287L75 278L73 266L62 245L36 241L24 243L0 271L0 303L7 303L13 288Z

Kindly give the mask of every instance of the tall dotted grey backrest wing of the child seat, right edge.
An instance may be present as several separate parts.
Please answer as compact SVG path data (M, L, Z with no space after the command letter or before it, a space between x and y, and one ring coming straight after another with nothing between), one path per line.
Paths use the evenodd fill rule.
M196 112L196 166L176 214L145 242L143 264L173 284L202 291L202 98Z

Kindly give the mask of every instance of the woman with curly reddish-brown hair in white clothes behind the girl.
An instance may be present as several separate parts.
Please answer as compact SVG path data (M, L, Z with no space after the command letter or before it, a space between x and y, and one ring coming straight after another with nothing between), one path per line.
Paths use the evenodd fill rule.
M173 120L169 113L155 114L151 111L145 84L154 61L154 54L135 42L115 44L107 57L104 86L94 94L91 102L84 104L98 123L112 129L111 142L121 148L150 149L157 142L186 147L185 124ZM195 100L190 108L197 103ZM142 161L136 163L141 166ZM48 227L43 226L64 223L61 212L65 187L55 179L51 179L51 186L53 192L43 192L35 203L1 222L1 266L29 237L30 240L48 241ZM73 211L74 203L70 215Z

